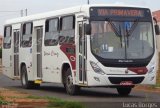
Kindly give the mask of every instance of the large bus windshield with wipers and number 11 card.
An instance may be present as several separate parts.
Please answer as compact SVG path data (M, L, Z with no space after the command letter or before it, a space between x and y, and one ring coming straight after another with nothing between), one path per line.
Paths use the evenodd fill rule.
M104 59L144 59L153 54L149 21L91 21L91 51Z

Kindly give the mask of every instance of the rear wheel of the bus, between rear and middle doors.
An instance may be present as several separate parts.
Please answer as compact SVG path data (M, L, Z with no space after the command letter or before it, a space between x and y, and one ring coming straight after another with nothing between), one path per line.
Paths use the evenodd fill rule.
M27 68L26 66L22 66L21 68L21 84L25 89L38 88L40 84L35 84L34 81L28 80Z

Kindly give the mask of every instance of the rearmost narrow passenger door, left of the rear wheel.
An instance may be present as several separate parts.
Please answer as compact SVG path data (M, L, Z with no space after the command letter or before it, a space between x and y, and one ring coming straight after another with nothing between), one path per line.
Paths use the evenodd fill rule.
M19 30L13 30L13 72L14 79L19 77Z

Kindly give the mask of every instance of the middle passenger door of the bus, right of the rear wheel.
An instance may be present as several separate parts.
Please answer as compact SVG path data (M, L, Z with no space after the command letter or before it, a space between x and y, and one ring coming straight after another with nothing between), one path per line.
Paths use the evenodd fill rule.
M43 37L43 27L35 27L35 37L33 43L33 71L35 80L42 79L42 37Z

